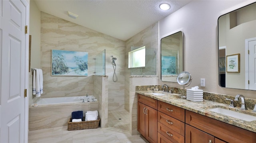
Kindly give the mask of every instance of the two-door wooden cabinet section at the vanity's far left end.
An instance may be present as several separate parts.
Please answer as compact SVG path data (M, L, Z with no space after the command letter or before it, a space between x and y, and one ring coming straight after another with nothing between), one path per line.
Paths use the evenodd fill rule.
M154 100L138 94L138 131L150 143L157 143L157 110L154 109L157 108L157 100Z

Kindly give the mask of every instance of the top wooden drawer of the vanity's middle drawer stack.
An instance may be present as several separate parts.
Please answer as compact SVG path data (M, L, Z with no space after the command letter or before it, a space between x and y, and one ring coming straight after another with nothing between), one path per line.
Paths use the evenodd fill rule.
M158 111L185 122L185 109L158 101Z

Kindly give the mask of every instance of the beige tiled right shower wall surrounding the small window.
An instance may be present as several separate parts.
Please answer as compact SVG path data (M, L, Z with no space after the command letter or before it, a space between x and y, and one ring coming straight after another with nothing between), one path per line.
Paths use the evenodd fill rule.
M131 51L131 47L142 47L146 45L146 49L148 48L148 51L152 51L152 54L146 53L146 55L150 60L146 61L146 65L148 65L147 68L143 69L142 74L140 72L137 72L139 69L133 69L131 72L130 69L128 69L128 52ZM131 75L158 75L158 69L156 68L158 65L157 63L157 54L154 53L154 50L158 50L158 23L150 25L146 29L140 31L138 34L134 35L130 39L125 41L125 103L124 103L124 109L126 111L130 111L130 99L133 99L134 97L130 97L130 86L133 86L132 83L130 83L130 76ZM158 51L157 51L158 52ZM137 71L136 71L137 70ZM156 74L154 74L154 71L156 71ZM152 74L153 73L153 74ZM142 77L142 76L140 76ZM135 78L135 77L134 77ZM147 80L144 81L145 84L143 85L150 85L152 83L148 83ZM136 84L136 85L142 85L142 84ZM134 89L135 90L135 89Z

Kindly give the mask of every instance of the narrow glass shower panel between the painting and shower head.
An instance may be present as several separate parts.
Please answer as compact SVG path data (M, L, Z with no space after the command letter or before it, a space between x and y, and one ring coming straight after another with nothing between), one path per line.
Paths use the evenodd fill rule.
M106 49L101 51L95 57L95 75L105 75L105 63L106 63L105 53L106 53Z

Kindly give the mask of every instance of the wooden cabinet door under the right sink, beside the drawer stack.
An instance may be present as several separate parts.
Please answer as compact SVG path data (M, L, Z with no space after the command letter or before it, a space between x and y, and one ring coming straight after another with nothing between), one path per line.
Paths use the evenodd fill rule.
M188 124L185 125L185 143L214 143L214 136Z

